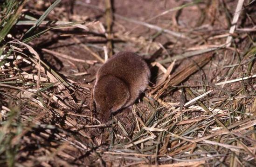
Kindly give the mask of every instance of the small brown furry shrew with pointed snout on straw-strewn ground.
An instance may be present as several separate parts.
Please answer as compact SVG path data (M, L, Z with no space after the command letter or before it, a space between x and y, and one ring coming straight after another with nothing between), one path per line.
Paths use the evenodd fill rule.
M149 83L150 70L133 52L119 52L97 71L93 99L97 115L106 122L111 114L131 106Z

